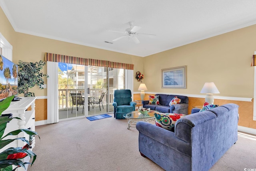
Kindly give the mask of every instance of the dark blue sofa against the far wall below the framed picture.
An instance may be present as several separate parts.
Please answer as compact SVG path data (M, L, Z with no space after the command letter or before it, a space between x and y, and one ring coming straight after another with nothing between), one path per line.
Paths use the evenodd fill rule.
M169 95L169 94L155 94L159 95L160 105L148 104L149 100L143 100L142 105L144 108L150 108L150 110L157 110L162 113L177 113L177 114L188 114L188 97L180 95ZM169 106L170 101L177 96L181 99L180 104L174 104Z

